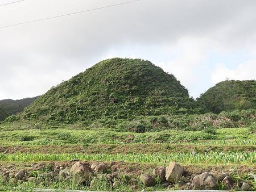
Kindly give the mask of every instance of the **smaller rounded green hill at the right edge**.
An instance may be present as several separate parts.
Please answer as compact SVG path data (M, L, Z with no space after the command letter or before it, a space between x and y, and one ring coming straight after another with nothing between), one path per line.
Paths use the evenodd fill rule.
M223 81L201 94L197 101L214 113L256 109L256 81Z

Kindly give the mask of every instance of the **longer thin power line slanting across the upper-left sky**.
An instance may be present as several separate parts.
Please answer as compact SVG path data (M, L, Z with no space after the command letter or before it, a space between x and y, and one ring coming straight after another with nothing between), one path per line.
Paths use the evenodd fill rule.
M22 0L22 1L24 1L24 0ZM134 3L134 2L137 2L137 1L141 1L141 0L135 0L135 1L129 1L129 2L124 2L124 3L118 3L118 4L108 5L108 6L104 6L104 7L97 7L97 8L94 8L94 9L89 9L89 10L84 10L84 11L78 11L78 12L72 12L72 13L64 14L64 15L51 16L51 17L43 18L43 19L30 20L30 21L28 21L28 22L10 24L9 26L1 26L0 28L13 27L13 26L20 26L20 25L22 25L22 24L40 22L40 21L42 21L42 20L55 19L55 18L60 18L61 16L75 15L75 14L80 14L80 13L82 13L82 12L95 11L95 10L100 10L100 9L109 8L109 7L115 7L115 6L125 5L125 4L128 4L128 3Z

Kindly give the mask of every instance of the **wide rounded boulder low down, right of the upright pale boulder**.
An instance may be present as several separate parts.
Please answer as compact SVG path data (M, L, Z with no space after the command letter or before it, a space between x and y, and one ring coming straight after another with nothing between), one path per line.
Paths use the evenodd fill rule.
M216 178L208 172L195 176L191 184L193 189L215 189L216 186Z

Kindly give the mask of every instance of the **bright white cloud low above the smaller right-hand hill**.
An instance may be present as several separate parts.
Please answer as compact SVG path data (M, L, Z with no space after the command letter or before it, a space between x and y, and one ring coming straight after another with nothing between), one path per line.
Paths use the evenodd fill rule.
M229 80L255 80L256 59L243 62L235 69L229 69L225 64L218 64L212 73L212 82L217 84L220 81Z

